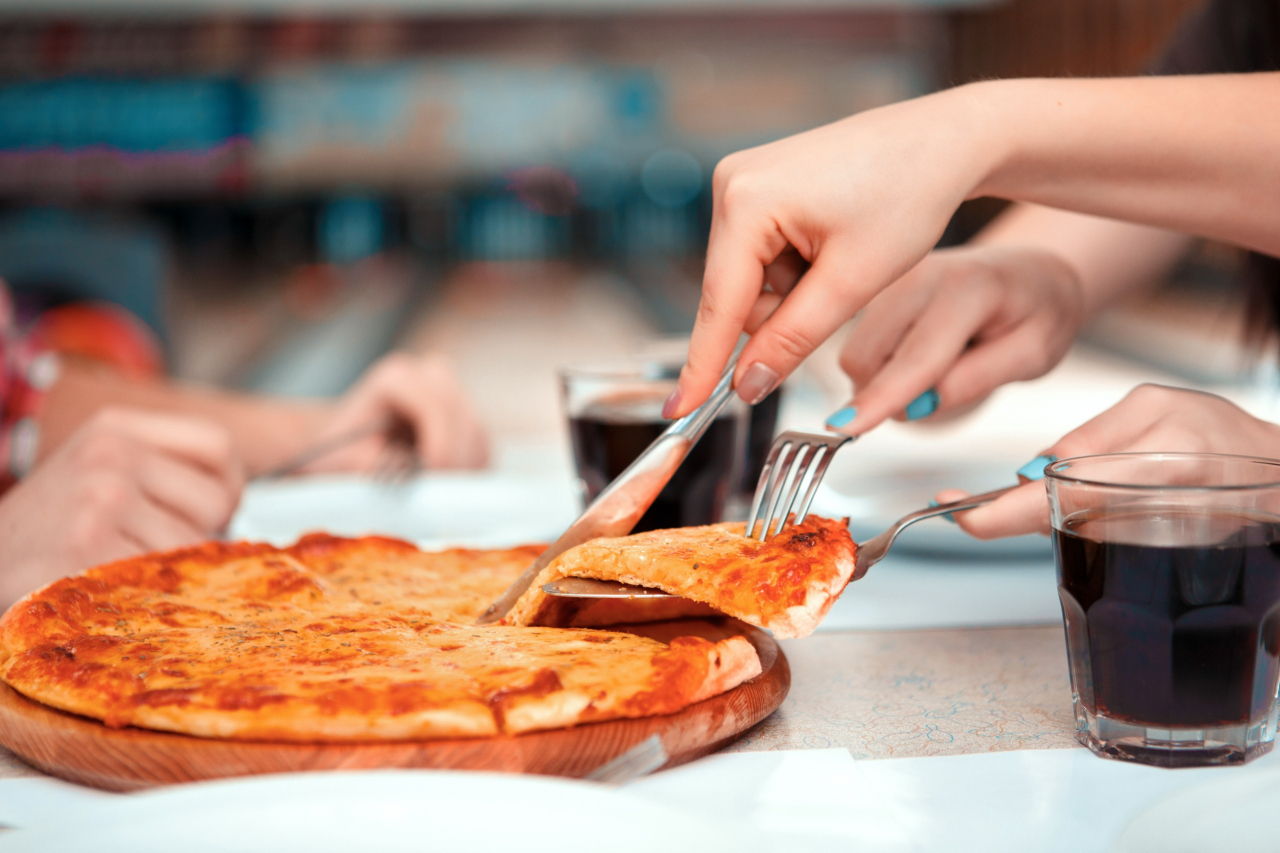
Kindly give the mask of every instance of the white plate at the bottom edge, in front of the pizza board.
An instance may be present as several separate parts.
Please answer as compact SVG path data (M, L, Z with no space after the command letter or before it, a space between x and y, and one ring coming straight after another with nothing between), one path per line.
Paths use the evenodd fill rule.
M257 776L111 798L0 834L0 852L758 850L742 829L591 783L515 774Z

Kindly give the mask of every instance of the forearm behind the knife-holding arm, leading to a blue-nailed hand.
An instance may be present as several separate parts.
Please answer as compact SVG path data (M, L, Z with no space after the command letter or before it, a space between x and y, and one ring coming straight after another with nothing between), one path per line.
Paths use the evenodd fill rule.
M1133 223L1014 205L974 240L982 246L1027 246L1052 252L1076 273L1084 293L1084 316L1162 280L1192 238Z

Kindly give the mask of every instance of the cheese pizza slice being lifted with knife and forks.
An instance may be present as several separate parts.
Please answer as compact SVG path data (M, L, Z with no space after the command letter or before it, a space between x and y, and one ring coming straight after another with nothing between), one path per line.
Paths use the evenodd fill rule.
M856 546L847 525L809 516L765 542L746 538L744 530L744 524L728 523L585 542L553 560L503 622L547 621L554 601L543 592L544 584L596 578L655 587L776 637L812 634L854 574ZM636 606L664 601L669 599Z

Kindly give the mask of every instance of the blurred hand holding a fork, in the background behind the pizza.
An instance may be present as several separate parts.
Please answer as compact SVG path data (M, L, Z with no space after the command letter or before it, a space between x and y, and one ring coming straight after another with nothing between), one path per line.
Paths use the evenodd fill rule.
M428 470L484 467L489 461L484 425L443 356L385 356L338 402L315 441L379 424L388 416L413 428L419 459ZM308 470L371 470L385 443L383 435L371 437L317 460Z

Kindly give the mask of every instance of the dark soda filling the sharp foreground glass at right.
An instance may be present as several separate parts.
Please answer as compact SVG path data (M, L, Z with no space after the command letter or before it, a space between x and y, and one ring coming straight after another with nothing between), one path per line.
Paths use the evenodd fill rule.
M1265 717L1280 652L1280 520L1143 508L1055 530L1073 688L1094 715L1210 729Z

